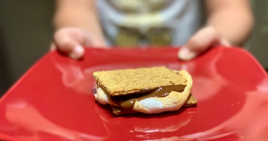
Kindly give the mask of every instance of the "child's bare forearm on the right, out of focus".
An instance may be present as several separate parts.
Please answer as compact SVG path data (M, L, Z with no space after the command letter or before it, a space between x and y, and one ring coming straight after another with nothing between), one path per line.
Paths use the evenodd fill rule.
M253 16L247 6L226 6L209 12L207 26L214 27L232 45L242 45L250 35Z

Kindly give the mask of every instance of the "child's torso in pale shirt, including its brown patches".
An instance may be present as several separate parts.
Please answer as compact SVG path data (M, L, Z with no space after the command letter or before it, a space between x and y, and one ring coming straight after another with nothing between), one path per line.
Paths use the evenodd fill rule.
M199 0L98 0L97 4L109 44L184 45L202 24Z

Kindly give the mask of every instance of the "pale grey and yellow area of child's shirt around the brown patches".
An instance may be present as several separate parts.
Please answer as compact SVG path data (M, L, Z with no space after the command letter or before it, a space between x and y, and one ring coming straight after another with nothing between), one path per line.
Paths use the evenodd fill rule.
M146 36L151 27L167 28L171 45L184 45L202 25L200 0L97 0L107 42L113 44L120 27Z

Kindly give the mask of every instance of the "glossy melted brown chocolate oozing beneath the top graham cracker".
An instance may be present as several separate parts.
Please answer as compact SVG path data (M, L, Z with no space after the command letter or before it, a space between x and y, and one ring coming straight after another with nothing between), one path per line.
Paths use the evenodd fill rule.
M111 96L111 100L123 109L132 109L136 101L140 101L149 97L166 97L171 91L183 92L185 85L168 85L159 86L157 88L148 91L140 91L139 94L123 95L123 96ZM146 91L147 90L147 91Z

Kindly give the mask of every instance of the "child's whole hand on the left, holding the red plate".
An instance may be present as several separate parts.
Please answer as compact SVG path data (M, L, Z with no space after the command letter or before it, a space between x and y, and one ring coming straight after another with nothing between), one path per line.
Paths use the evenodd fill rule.
M84 46L105 47L106 45L103 39L80 28L65 27L55 32L50 50L58 49L73 59L80 59L85 52Z

